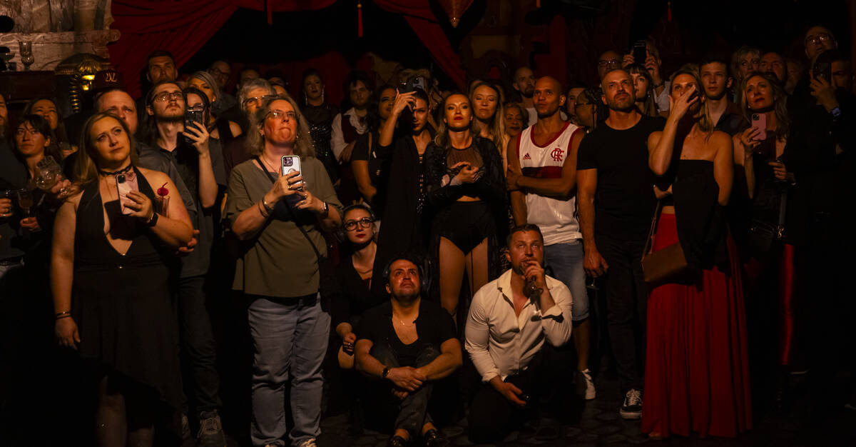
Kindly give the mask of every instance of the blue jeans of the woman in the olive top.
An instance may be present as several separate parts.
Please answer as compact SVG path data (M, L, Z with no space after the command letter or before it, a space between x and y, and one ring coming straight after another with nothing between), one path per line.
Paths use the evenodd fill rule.
M320 295L252 296L247 316L253 336L253 445L284 445L285 384L291 380L292 445L321 433L321 364L330 335L330 314Z

